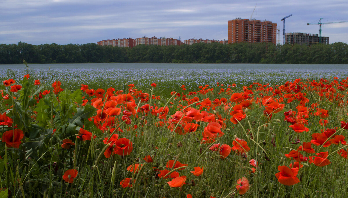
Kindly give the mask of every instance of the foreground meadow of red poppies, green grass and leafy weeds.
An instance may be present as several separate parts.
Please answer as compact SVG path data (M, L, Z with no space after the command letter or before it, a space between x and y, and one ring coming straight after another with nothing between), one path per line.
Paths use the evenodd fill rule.
M1 74L0 197L348 196L342 73L195 87L21 72Z

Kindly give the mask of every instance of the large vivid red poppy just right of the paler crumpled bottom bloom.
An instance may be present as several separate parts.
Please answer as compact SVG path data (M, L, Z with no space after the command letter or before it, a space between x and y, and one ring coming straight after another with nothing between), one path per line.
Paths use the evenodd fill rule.
M299 168L288 168L287 166L278 166L279 173L276 173L276 178L279 183L284 185L294 185L299 183L299 178L296 175L299 172Z

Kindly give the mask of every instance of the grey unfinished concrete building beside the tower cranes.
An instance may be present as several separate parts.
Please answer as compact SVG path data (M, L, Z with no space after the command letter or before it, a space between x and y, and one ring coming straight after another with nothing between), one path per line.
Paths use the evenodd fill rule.
M307 33L286 33L286 43L289 44L300 44L300 45L307 45L311 46L313 44L319 43L319 36L318 34L307 34ZM323 44L329 44L329 37L322 36L322 43Z

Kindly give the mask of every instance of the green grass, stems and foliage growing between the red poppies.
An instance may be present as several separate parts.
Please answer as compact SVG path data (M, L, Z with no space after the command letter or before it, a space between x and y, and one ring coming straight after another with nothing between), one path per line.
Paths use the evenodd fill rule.
M310 81L313 79L294 83L294 85L299 85L303 88L300 92L305 93L305 97L309 100L301 104L308 108L308 117L305 118L308 120L308 124L304 124L304 126L308 127L309 130L296 133L289 127L291 124L284 121L284 112L290 109L298 112L296 107L300 105L300 101L294 99L292 102L287 103L287 99L284 98L284 94L287 93L285 89L281 92L282 96L280 94L274 95L274 84L284 85L285 82L274 81L272 82L273 86L266 85L264 88L254 84L251 88L247 88L253 93L247 94L246 96L250 98L244 98L243 100L250 100L251 106L244 107L242 111L246 117L237 124L233 124L230 121L232 116L229 113L233 111L231 107L235 107L239 102L232 102L229 99L233 93L246 92L247 90L243 90L242 86L249 86L252 82L248 82L253 79L233 80L235 78L232 77L224 80L220 79L220 84L217 86L217 74L209 75L209 77L203 80L200 78L200 80L181 79L166 81L165 79L148 78L142 80L139 78L137 81L132 82L127 81L127 76L130 76L130 73L124 74L123 79L112 79L109 77L103 81L100 81L98 76L90 79L91 74L70 73L66 74L66 76L55 72L30 74L32 74L32 78L21 81L22 74L9 71L4 79L14 78L16 80L15 84L22 84L22 90L10 92L9 87L3 86L1 88L4 90L3 95L8 93L13 100L3 99L0 113L7 112L7 115L13 119L14 125L17 124L18 129L23 130L25 133L25 138L21 140L19 148L7 148L5 143L3 143L3 149L0 151L0 156L3 159L1 161L3 164L0 163L1 188L9 189L11 191L10 196L186 197L188 194L191 194L192 197L347 197L348 178L346 175L348 160L337 153L341 148L347 151L347 147L341 143L338 145L332 144L329 147L312 144L311 147L314 148L316 153L328 152L329 157L327 158L331 164L318 167L310 164L308 161L303 162L303 167L299 168L297 175L300 180L299 183L286 186L281 184L275 176L279 172L278 166L284 165L288 167L294 162L294 160L285 157L285 154L288 154L291 150L297 150L302 145L302 142L310 142L312 140L311 134L322 133L321 130L335 129L338 131L336 135L343 135L345 140L347 139L347 130L341 129L340 126L341 121L348 120L346 90L339 88L339 86L343 88L348 86L344 79L338 80L342 84L334 84L334 79L330 79L328 82L321 82L322 89L311 85ZM199 76L199 74L199 72L194 73L196 76ZM111 76L111 73L103 75ZM259 75L261 79L264 78L262 75L279 77L278 74L271 73ZM103 76L100 78L102 79ZM26 86L25 84L31 82L31 79L32 81L34 79L42 79L42 84ZM64 91L54 94L51 85L56 80L62 82L61 87ZM91 121L88 120L92 116L97 116L97 109L93 107L91 102L91 99L95 98L95 96L89 97L82 91L73 92L73 90L80 88L80 84L88 84L90 88L95 90L97 88L106 89L112 86L116 90L123 90L124 93L127 93L127 85L133 82L135 84L135 87L131 88L133 93L136 91L135 88L137 88L150 96L148 101L142 102L140 102L140 98L134 98L134 109L141 109L143 105L150 104L152 94L160 96L160 100L151 99L150 106L153 106L154 109L156 109L156 106L158 108L168 106L169 112L167 116L164 116L165 119L160 119L157 113L152 115L151 113L147 114L144 111L140 111L137 113L137 117L130 116L131 123L127 125L126 123L121 123L121 112L120 115L114 116L117 120L115 119L113 124L108 126L106 130L101 130L93 122L95 118ZM150 86L152 82L157 83L158 86L152 88ZM319 82L319 79L317 79L317 82ZM206 89L197 89L197 84L195 83L203 86L209 84L209 86ZM228 87L232 83L236 83L237 86L235 88ZM183 84L187 85L188 90L183 91L180 88ZM221 84L224 85L220 86ZM36 103L35 100L34 103L29 101L29 104L32 105L28 107L22 106L26 101L26 97L21 97L21 94L29 92L31 93L29 96L35 96L34 92L40 86L42 86L41 91L50 90L50 93L43 96L41 103ZM298 93L295 91L296 86L293 86L294 88L287 87L289 87L288 93L293 95ZM329 91L330 87L334 89L334 93ZM211 88L213 90L204 92L204 90ZM220 88L225 90L220 92ZM228 88L231 90L227 91ZM276 86L276 88L279 88L279 86ZM181 96L171 96L170 92L172 91L179 92ZM197 93L190 95L189 93L193 91ZM183 94L188 100L183 100ZM333 99L329 96L323 97L326 94L329 96L334 94ZM57 96L59 101L56 98ZM262 100L266 102L269 100L267 96L272 96L273 100L285 105L280 112L272 113L271 118L268 118L263 113L268 104L262 105L262 102L257 102ZM336 96L338 96L337 99ZM86 106L82 105L82 97L88 99ZM193 104L194 101L191 101L191 99L194 97L198 97L198 100L209 98L210 101L226 98L227 101L223 104L217 102L216 105L213 102L213 106L206 107L202 105L203 102ZM284 99L284 102L281 101L281 98ZM83 111L74 109L75 101L78 102L75 108ZM328 110L328 116L322 118L316 115L317 109L311 107L314 103L318 104L316 108ZM123 111L126 104L127 102L123 101L117 107ZM172 119L174 117L172 115L177 111L181 111L190 104L193 104L192 108L200 109L201 113L206 111L208 114L214 114L215 117L219 117L220 121L218 119L215 121L224 123L222 125L226 126L220 128L224 134L215 138L216 141L214 143L220 143L220 145L227 144L233 147L236 144L236 138L244 139L248 147L250 147L250 151L240 154L232 150L225 159L221 159L219 152L209 150L213 143L201 143L202 133L208 122L192 121L199 125L197 130L183 135L171 131L171 126L180 129L186 123L179 118L177 121L181 123L181 126L170 124L169 119ZM105 103L103 106L105 106ZM41 115L38 109L43 110L44 114L42 114L42 117L44 117L43 119L46 122L38 119ZM90 113L87 113L89 110ZM38 113L34 113L34 111ZM83 112L86 114L83 114ZM25 118L24 123L19 122L21 120L18 119L19 114ZM320 119L326 119L328 121L327 126L320 125ZM167 121L167 123L163 126L158 126L160 121ZM103 124L103 122L100 124ZM36 125L41 128L34 130L33 126ZM3 129L0 131L2 134L7 130L13 129L13 127L5 126L3 125ZM81 127L92 132L93 135L96 135L96 138L86 141L78 139L77 134ZM119 135L119 139L126 138L133 143L133 150L129 155L120 156L114 154L110 158L104 156L103 153L107 146L105 146L103 140L110 137L110 132L112 131L110 129L113 127L119 127L121 130L113 132ZM54 133L53 130L55 130ZM31 135L34 132L37 135ZM69 149L63 149L61 144L65 138L72 140L75 145ZM296 143L298 140L300 143ZM30 150L30 148L35 149ZM36 153L32 152L33 150L36 150ZM306 152L301 152L301 154L305 157L316 156ZM143 158L148 155L152 156L153 162L145 162ZM252 166L249 164L249 160L251 159L255 159L258 162L258 168L256 168L254 173L250 173ZM169 160L187 164L185 169L177 170L180 176L187 176L186 184L182 185L181 188L171 188L168 185L167 182L171 181L172 178L161 179L158 176L160 172L156 171L157 169L164 170L164 168L167 168L169 171L173 170L172 167L166 167ZM8 164L6 165L6 163ZM134 164L143 164L138 173L127 170L128 166ZM191 173L194 167L197 166L204 167L203 174L200 176L195 176ZM78 170L77 177L73 179L72 183L68 183L63 179L65 171L70 169ZM239 195L236 189L236 182L243 177L248 179L250 189L244 195ZM132 178L132 187L121 187L120 182L125 178Z

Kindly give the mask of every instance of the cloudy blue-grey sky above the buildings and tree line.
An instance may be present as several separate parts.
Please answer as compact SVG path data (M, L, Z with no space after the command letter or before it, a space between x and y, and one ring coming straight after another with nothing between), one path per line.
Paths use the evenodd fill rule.
M285 32L319 34L319 25L307 23L348 21L348 1L0 0L0 43L85 44L142 36L224 40L228 20L251 16L277 23L283 43L280 19L290 14ZM348 43L348 23L324 24L322 36Z

